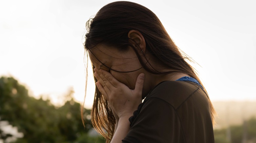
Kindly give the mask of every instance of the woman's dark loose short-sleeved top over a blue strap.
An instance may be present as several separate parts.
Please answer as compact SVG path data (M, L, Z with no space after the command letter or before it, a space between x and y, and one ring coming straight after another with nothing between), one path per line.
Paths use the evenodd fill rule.
M129 120L123 143L214 143L208 96L193 82L158 84Z

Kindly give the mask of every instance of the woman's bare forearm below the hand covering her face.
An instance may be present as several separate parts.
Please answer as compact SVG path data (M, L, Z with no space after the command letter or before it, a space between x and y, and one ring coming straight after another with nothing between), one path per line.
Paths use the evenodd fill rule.
M127 135L130 129L129 117L126 116L126 117L120 118L118 123L116 123L115 128L116 128L116 131L111 140L111 143L121 143L122 139Z

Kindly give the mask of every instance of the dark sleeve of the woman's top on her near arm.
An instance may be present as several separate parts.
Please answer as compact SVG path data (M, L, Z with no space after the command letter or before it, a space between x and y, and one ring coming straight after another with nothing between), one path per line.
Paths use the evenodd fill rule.
M151 97L144 101L123 143L182 143L179 117L167 102Z

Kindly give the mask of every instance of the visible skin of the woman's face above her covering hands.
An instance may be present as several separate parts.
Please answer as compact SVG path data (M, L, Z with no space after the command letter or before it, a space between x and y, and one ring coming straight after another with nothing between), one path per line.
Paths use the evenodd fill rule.
M115 47L98 44L88 52L97 69L109 71L118 81L130 89L135 88L138 75L145 72L131 47L127 51L120 51Z

